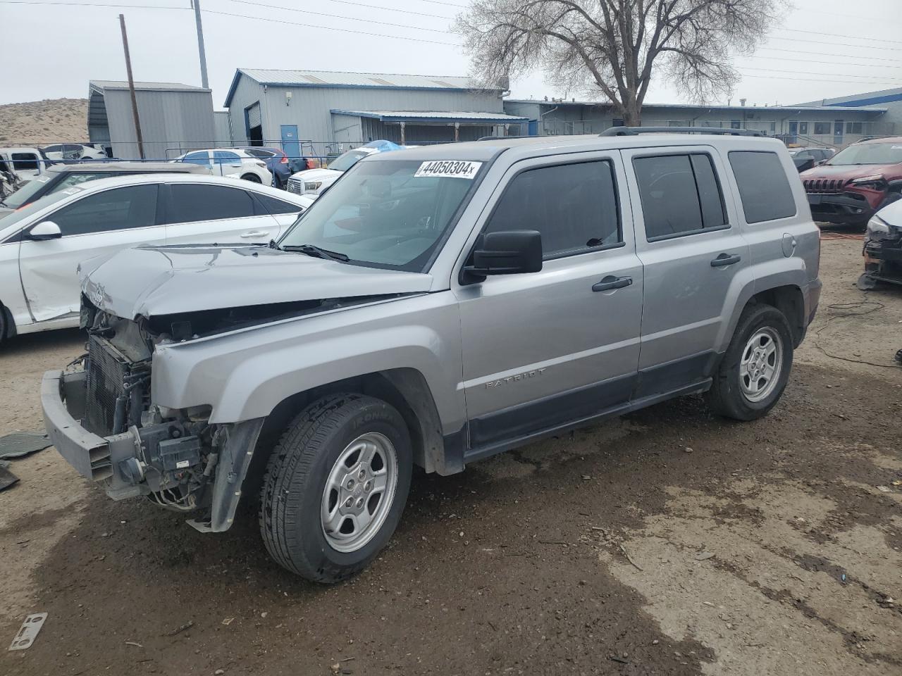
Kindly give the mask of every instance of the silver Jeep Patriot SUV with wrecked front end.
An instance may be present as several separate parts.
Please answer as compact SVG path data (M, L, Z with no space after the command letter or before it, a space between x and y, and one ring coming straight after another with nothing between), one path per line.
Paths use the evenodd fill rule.
M389 540L415 464L695 393L764 416L821 289L796 168L776 140L645 131L373 155L269 246L82 263L53 443L204 532L259 495L272 557L335 582Z

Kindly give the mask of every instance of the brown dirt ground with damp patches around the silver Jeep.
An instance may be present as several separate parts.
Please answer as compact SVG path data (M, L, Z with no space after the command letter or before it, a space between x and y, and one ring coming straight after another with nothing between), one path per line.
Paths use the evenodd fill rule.
M854 288L860 251L824 242L821 310L766 418L688 397L415 475L389 548L332 588L272 563L253 514L199 534L52 449L15 461L0 637L50 616L0 673L898 676L902 288ZM41 372L79 346L0 353L0 434L41 427Z

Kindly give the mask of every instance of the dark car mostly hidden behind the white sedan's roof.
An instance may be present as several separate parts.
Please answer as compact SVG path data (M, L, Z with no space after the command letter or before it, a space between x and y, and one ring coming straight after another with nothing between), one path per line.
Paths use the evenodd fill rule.
M50 195L79 183L128 174L199 173L209 174L206 167L181 162L81 162L54 164L47 173L28 181L12 195L0 200L0 217L5 213L30 205L42 196Z

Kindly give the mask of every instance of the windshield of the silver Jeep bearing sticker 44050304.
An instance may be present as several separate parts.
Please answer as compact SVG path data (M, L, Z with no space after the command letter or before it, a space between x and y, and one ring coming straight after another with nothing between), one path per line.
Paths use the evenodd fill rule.
M427 176L435 166L461 165ZM330 187L279 242L312 244L374 268L421 272L474 187L482 162L361 162Z

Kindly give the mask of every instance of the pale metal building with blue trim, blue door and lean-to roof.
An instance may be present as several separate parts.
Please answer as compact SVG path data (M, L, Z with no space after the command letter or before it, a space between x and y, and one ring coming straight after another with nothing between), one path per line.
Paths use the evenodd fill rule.
M226 108L235 144L327 155L378 139L473 141L519 129L527 120L504 112L505 94L468 78L238 69Z

